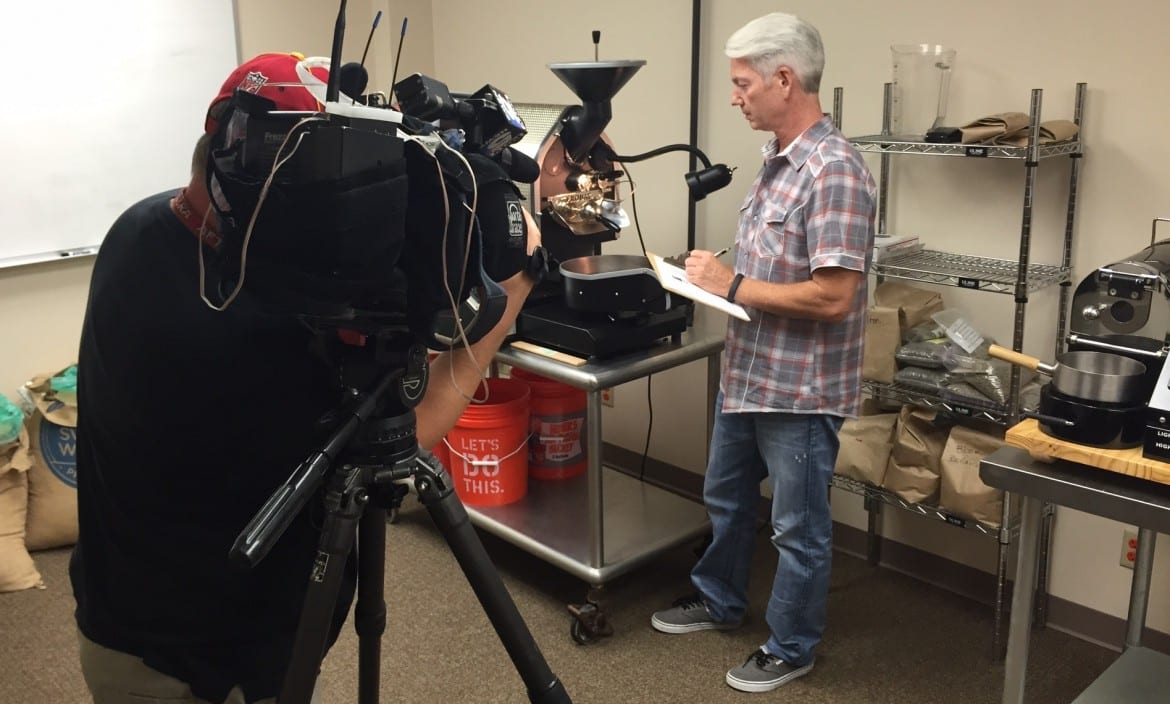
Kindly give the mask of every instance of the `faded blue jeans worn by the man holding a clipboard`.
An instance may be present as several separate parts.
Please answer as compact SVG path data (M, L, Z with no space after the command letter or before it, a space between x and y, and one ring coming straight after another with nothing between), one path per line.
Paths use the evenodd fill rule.
M722 413L716 400L703 501L714 533L690 580L716 621L738 621L748 607L759 483L772 489L772 545L779 553L765 617L764 649L807 664L825 631L833 520L828 484L842 419L793 413Z

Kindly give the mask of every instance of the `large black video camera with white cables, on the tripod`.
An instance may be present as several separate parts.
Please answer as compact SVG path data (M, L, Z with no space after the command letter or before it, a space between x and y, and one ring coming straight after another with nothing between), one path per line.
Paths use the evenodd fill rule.
M526 253L511 181L538 170L515 174L528 158L508 149L523 120L490 85L459 101L411 76L400 85L418 89L404 90L404 115L337 101L337 73L330 85L305 75L305 89L324 89L324 111L281 111L236 90L216 120L207 180L223 235L213 261L223 303L247 281L268 309L316 327L431 348L474 343L507 304L496 282ZM466 138L441 134L432 117L457 120Z

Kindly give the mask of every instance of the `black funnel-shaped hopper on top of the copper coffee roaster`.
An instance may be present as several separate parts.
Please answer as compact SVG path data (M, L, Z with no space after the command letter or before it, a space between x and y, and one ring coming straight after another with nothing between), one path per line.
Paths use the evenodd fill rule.
M646 61L640 58L549 64L549 69L581 99L580 108L569 111L560 131L560 140L570 159L580 163L593 149L613 117L610 99L644 65Z

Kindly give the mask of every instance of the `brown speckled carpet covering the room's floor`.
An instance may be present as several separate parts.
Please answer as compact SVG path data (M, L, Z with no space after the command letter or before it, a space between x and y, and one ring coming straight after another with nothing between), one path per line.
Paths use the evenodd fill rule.
M686 591L694 546L663 553L606 585L613 637L578 646L566 603L586 586L564 572L484 538L552 670L580 703L801 702L962 703L1000 700L1003 663L991 660L991 609L908 577L834 558L828 630L815 669L770 693L723 682L766 639L762 619L775 553L760 537L752 575L756 610L737 631L670 636L651 612ZM43 591L0 594L0 702L89 702L76 663L67 550L36 553ZM426 511L408 498L387 530L381 700L523 703L528 697L487 616ZM1030 702L1071 702L1116 654L1053 630L1032 639ZM357 636L346 629L323 664L329 704L357 700Z

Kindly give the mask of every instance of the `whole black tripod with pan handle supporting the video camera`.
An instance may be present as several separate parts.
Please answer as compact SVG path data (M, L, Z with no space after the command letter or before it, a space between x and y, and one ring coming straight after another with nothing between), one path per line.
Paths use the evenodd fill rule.
M425 363L424 363L425 364ZM289 477L236 538L233 558L255 565L283 533L296 512L325 485L325 522L317 558L309 575L304 608L292 657L281 685L281 704L308 704L321 661L345 561L355 541L358 548L358 593L355 628L358 633L358 700L379 698L381 634L386 628L385 584L386 512L397 510L413 481L447 545L467 575L512 665L528 688L530 702L571 703L541 654L516 609L503 580L488 558L450 477L429 451L418 447L413 403L386 413L395 395L414 399L426 386L402 371L386 373L367 394L356 394L350 416L332 436ZM407 380L412 379L412 380ZM333 458L339 458L336 463ZM331 471L330 471L331 470Z

